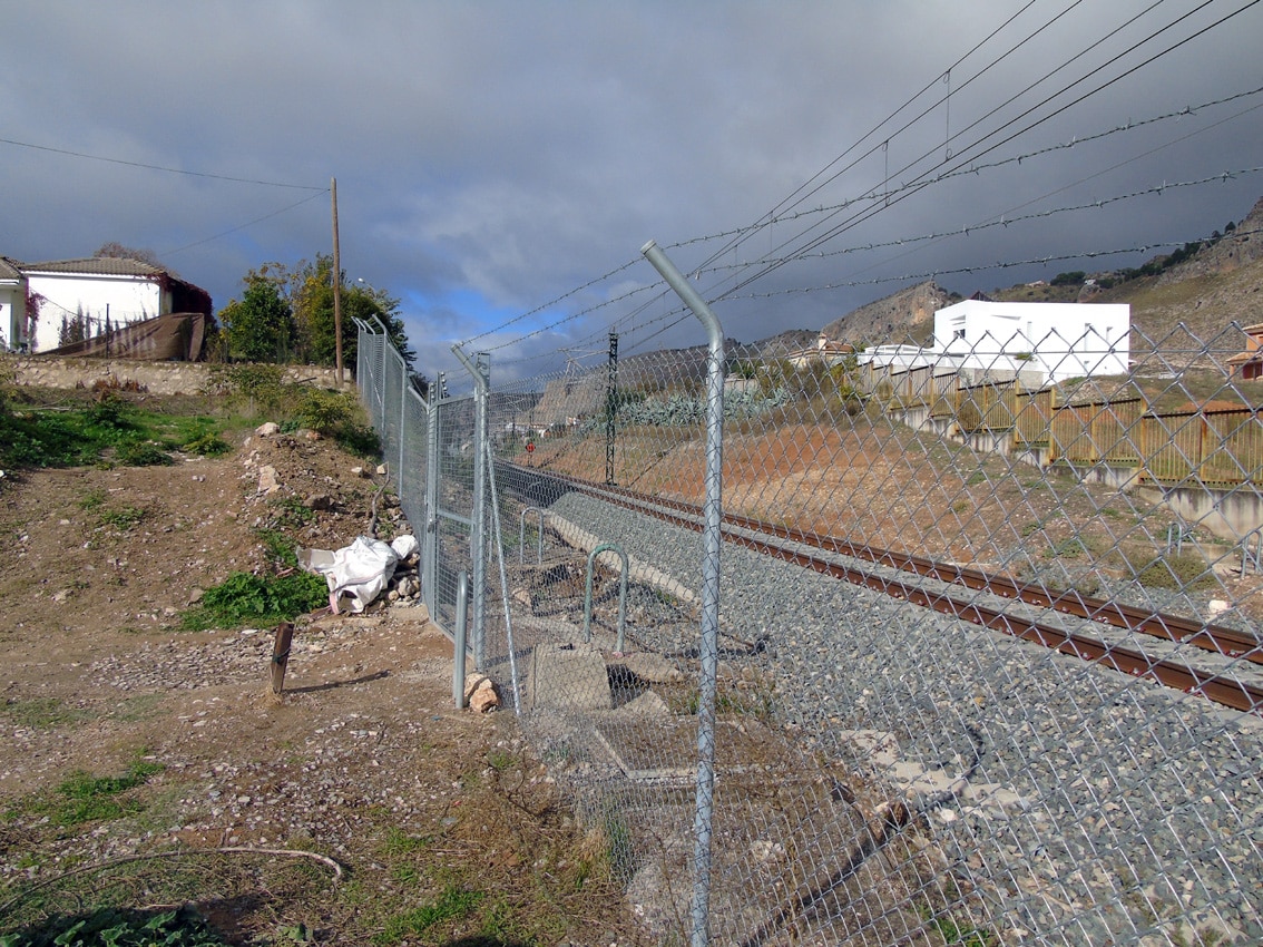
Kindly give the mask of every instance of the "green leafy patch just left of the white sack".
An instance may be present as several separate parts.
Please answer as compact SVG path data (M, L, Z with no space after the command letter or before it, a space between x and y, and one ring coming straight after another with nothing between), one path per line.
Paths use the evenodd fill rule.
M328 585L321 576L309 572L288 576L234 572L208 588L197 606L184 612L181 626L186 631L205 631L211 628L275 624L327 602Z

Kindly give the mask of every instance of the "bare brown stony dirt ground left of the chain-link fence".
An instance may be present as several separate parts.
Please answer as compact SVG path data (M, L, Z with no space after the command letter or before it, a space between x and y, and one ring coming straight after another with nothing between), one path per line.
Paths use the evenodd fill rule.
M264 567L259 529L318 548L362 533L375 484L356 463L255 436L174 467L10 472L0 933L110 889L193 902L234 943L637 942L512 715L456 708L423 607L299 619L280 697L272 629L179 630L197 590ZM403 528L386 505L381 538ZM75 812L83 774L141 778Z

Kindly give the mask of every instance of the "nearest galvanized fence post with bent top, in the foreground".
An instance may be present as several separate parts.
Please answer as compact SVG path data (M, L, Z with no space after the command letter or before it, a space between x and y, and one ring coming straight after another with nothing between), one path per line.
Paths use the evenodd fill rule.
M706 364L706 499L702 505L701 681L697 720L697 812L693 822L692 947L710 943L711 835L715 802L715 697L719 676L719 556L724 542L724 327L692 284L654 241L640 253L662 274L705 326L710 342Z

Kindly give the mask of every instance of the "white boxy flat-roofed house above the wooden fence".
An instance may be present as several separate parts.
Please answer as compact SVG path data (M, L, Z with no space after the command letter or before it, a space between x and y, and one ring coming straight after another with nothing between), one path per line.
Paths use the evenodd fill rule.
M1132 307L965 299L935 313L935 351L964 369L1037 371L1047 381L1125 375Z

